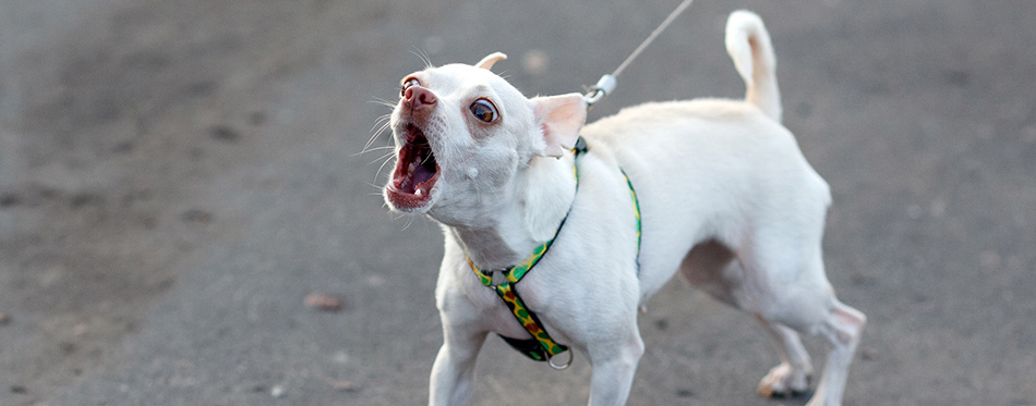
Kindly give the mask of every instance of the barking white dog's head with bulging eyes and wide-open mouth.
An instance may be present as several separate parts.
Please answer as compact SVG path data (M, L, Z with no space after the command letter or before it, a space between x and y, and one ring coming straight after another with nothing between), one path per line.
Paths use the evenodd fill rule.
M579 136L587 104L579 94L526 98L490 69L427 67L402 79L390 126L396 169L385 185L393 210L429 213L444 223L509 198L533 159L559 158Z

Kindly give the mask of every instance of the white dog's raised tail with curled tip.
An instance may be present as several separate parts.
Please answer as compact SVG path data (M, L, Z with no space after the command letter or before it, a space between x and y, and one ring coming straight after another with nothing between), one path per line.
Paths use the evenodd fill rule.
M759 15L746 10L731 13L726 20L726 52L745 79L745 101L781 121L781 91L778 89L776 58L770 34Z

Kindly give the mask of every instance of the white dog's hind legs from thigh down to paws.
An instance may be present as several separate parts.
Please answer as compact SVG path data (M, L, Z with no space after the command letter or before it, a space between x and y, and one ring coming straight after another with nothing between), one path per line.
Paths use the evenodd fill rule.
M799 194L808 196L807 193ZM739 293L747 298L743 300L749 305L746 310L771 328L784 352L781 365L760 382L760 392L767 394L768 385L773 392L779 392L781 383L798 385L787 387L792 391L804 386L795 374L805 374L808 370L794 369L796 364L807 364L808 356L797 334L790 330L794 329L803 334L821 335L831 343L809 405L836 406L842 403L850 364L867 318L839 302L824 272L820 243L824 207L818 204L823 200L799 201L807 206L779 207L762 212L764 217L758 221L761 226L747 234L745 243L736 250L737 259L746 270ZM816 214L782 217L779 216L781 212ZM786 371L785 365L792 371ZM785 382L775 382L779 380Z

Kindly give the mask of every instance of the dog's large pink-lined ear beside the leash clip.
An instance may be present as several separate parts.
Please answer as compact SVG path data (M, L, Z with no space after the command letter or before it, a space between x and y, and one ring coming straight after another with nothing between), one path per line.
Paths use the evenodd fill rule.
M579 139L579 130L587 123L587 101L573 93L561 96L535 97L532 111L543 130L546 147L540 156L561 158Z

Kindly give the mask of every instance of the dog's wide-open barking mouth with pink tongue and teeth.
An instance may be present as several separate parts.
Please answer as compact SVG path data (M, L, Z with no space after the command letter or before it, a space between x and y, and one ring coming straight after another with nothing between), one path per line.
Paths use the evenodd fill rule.
M399 149L396 170L388 184L388 199L398 208L413 209L432 199L432 186L438 180L438 163L424 132L407 124L407 143Z

